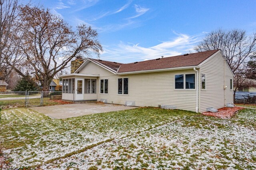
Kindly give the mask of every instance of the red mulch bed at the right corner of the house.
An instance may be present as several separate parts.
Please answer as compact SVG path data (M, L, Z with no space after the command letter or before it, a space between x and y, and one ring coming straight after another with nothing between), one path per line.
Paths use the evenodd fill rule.
M214 116L214 117L219 117L222 119L229 119L231 118L238 110L244 109L242 107L222 107L218 109L218 112L213 113L210 111L206 111L202 113L202 115L206 116Z

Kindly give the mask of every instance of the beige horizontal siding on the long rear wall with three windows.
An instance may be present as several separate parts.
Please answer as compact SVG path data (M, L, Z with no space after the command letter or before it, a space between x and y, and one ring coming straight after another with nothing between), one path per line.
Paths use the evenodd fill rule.
M127 76L101 76L98 78L98 100L125 104L134 101L136 106L170 105L177 109L196 111L196 90L174 90L174 74L195 73L194 70L130 74ZM129 78L129 94L117 94L117 79ZM100 79L108 79L108 94L100 94Z

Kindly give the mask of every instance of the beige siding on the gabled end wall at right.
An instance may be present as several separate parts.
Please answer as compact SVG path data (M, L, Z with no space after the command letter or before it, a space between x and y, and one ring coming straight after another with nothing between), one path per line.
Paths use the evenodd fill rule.
M206 111L208 107L218 109L233 103L233 90L230 90L233 74L220 52L202 64L200 73L206 74L206 90L200 90L200 112ZM224 85L227 86L226 90Z

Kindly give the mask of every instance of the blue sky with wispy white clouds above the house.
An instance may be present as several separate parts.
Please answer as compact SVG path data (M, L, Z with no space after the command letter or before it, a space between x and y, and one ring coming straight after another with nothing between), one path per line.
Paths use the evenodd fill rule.
M256 32L256 0L37 0L99 33L102 60L131 63L188 53L212 30Z

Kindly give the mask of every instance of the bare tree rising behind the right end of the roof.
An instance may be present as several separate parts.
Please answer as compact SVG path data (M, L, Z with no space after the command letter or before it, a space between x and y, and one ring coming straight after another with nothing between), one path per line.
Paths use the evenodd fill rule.
M256 33L247 36L244 30L218 29L208 33L194 49L198 52L221 49L230 68L236 73L241 64L256 51Z

